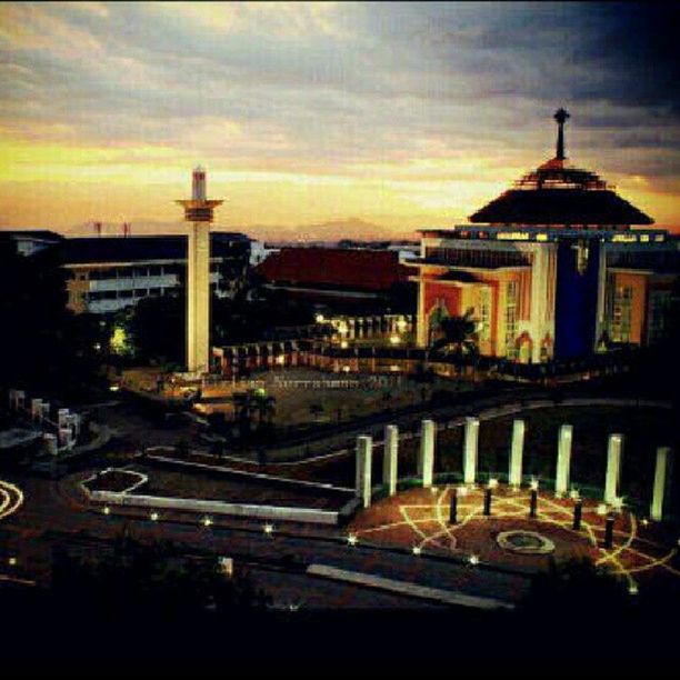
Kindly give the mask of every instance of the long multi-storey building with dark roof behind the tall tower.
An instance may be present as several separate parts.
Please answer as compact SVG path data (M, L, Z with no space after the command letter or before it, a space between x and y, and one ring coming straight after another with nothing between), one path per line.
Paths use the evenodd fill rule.
M229 297L247 273L250 239L219 231L210 237L210 287L218 297ZM183 236L74 238L61 247L71 273L68 304L76 312L118 311L186 281Z

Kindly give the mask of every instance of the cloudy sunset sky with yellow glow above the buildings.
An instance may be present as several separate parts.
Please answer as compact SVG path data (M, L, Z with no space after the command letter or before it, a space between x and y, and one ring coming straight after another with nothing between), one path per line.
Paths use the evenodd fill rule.
M678 6L0 4L0 228L414 236L567 156L680 230ZM327 224L330 223L330 224ZM376 233L373 233L376 232Z

